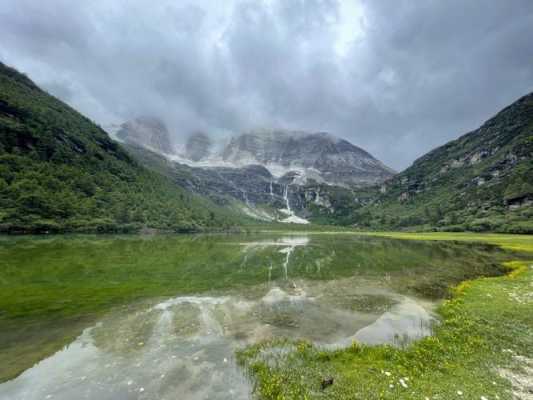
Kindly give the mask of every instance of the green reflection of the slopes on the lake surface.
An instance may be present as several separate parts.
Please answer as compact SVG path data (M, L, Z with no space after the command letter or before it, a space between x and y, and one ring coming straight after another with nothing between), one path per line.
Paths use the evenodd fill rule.
M292 236L285 237L289 240ZM0 381L70 343L113 309L180 294L257 296L268 278L379 282L427 299L450 285L504 273L509 254L492 246L417 242L353 234L312 235L288 265L280 235L69 235L0 238ZM269 267L272 269L269 270ZM320 267L320 268L318 268ZM383 277L388 279L384 280ZM264 285L264 286L262 286ZM337 286L337 290L340 290ZM386 299L343 297L348 309ZM120 311L119 311L120 312ZM283 317L283 316L281 316Z

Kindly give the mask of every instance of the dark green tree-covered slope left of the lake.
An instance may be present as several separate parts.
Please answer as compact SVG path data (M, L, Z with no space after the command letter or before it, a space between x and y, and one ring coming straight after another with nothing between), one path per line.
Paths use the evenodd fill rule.
M0 63L0 230L223 228L233 216L148 171L29 78Z

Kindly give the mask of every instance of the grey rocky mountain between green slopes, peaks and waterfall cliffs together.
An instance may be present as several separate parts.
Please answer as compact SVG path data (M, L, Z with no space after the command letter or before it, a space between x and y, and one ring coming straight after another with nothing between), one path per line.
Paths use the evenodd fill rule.
M180 186L218 204L238 201L259 219L304 223L310 216L334 212L330 193L343 192L357 201L354 190L394 174L366 151L327 133L247 132L216 151L207 134L196 132L173 155L162 150L168 148L161 144L167 129L153 120L128 122L117 136L136 145L131 151L145 164L165 165L166 174ZM140 147L174 163L166 165Z

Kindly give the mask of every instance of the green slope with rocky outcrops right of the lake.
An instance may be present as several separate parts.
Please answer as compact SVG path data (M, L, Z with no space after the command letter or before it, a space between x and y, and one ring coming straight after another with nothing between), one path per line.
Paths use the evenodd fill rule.
M380 192L352 223L533 232L533 93L419 158Z

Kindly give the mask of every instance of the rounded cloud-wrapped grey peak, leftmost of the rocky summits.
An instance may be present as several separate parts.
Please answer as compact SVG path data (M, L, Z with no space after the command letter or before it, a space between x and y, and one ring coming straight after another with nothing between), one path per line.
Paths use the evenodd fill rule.
M154 117L139 117L123 123L116 132L118 139L146 147L161 154L174 154L166 125Z

